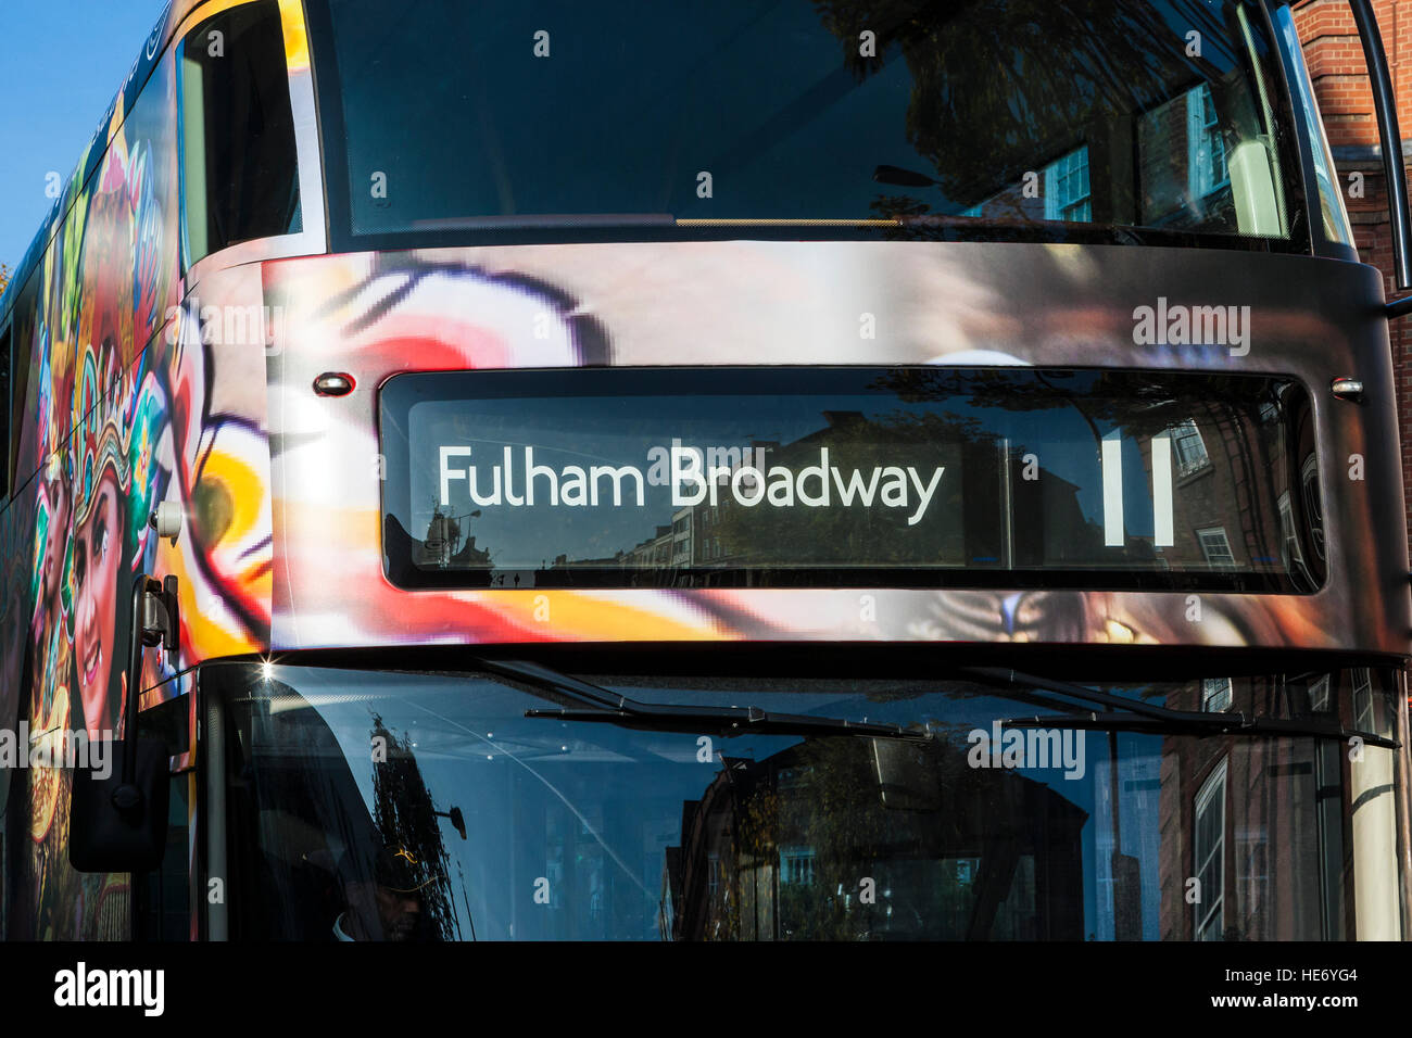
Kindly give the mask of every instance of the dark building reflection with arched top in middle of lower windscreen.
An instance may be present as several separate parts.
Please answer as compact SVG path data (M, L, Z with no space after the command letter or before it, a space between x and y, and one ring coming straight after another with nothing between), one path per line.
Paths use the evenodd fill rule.
M1086 821L1034 780L967 768L947 741L723 757L665 852L659 928L675 941L1077 941Z

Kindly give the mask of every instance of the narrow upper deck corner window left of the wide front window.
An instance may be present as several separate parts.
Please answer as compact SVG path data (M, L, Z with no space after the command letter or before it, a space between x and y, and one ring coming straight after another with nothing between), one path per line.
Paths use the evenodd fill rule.
M302 229L278 0L201 23L181 45L186 266Z

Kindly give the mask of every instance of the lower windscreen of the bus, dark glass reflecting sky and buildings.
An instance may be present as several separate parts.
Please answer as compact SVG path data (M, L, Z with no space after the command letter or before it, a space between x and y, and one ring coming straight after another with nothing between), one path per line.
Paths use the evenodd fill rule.
M637 702L755 706L931 739L731 737L527 716L561 703L483 674L208 668L203 686L226 703L232 733L232 935L1398 933L1395 919L1354 905L1351 883L1354 873L1385 877L1380 890L1399 883L1395 751L1367 746L1350 768L1339 739L1162 734L1121 715L1108 732L1022 688L945 668L909 676L891 647L854 651L868 676L823 676L826 664L799 651L789 672L765 676L586 676ZM1395 732L1391 668L1306 667L1087 684L1176 710ZM1004 723L1036 715L1043 727Z

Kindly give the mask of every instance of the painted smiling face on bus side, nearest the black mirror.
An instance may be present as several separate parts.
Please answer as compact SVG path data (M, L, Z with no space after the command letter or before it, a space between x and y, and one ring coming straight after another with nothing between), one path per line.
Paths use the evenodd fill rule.
M117 556L121 544L117 482L104 470L93 508L73 538L73 578L78 589L73 617L73 657L79 671L83 724L97 734L109 722L107 685L113 669L117 610Z

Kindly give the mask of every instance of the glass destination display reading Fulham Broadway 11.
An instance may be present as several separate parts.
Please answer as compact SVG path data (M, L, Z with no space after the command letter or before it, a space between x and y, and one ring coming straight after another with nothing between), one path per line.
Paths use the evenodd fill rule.
M404 587L1299 593L1323 580L1291 378L929 367L404 374Z

